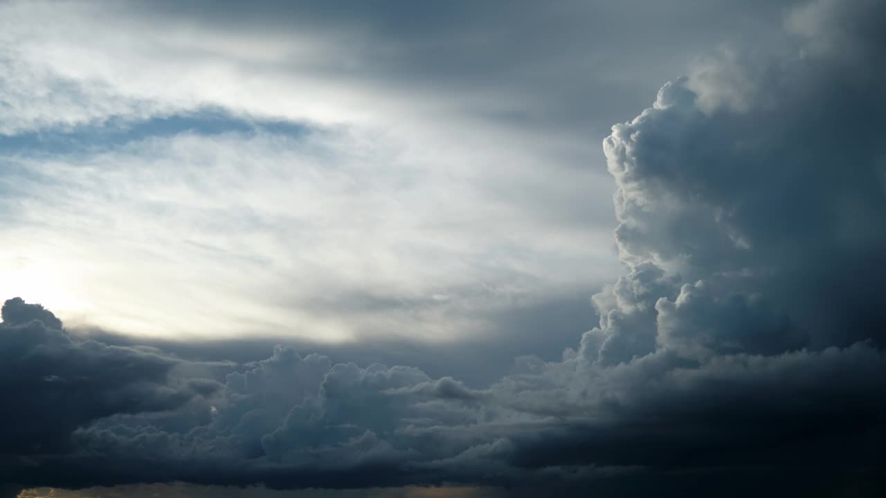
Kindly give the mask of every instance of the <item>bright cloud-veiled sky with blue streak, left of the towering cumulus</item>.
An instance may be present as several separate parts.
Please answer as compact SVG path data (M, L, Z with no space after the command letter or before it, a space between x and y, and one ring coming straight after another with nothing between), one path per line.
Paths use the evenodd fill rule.
M600 140L726 36L638 73L574 19L612 6L155 7L0 6L0 295L164 338L446 341L591 295L620 272ZM517 50L530 21L576 38Z

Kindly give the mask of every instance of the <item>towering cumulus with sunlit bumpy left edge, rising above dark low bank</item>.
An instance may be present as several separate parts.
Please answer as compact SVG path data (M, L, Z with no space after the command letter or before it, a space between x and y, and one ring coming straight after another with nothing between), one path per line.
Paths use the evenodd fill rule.
M601 361L699 335L720 352L883 346L883 7L856 4L795 12L801 57L703 66L613 128L633 271L597 297Z

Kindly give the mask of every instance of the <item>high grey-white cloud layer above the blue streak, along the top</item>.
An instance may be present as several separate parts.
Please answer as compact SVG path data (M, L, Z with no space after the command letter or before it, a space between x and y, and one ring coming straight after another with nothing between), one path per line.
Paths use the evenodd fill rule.
M636 105L697 47L747 33L765 38L784 4L268 2L247 10L235 2L13 2L4 6L10 50L0 67L15 112L0 129L137 121L215 105L325 124L413 123L418 111L440 124L505 125L527 141L540 129L605 133L624 105ZM528 26L544 36L526 37ZM649 43L664 35L667 45ZM640 49L648 54L641 64L619 57ZM610 98L588 99L589 88Z

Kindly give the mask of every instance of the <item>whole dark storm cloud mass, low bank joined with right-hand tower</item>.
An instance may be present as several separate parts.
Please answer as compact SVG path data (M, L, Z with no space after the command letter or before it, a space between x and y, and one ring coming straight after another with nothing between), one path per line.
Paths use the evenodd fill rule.
M882 493L884 21L811 4L782 53L725 54L613 127L626 275L562 361L484 388L286 347L183 361L7 301L0 482Z

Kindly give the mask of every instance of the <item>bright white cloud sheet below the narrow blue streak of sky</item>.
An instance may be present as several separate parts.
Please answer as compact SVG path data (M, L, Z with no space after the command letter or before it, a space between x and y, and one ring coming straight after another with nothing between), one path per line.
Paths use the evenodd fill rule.
M375 136L186 132L7 158L0 223L27 240L0 249L14 268L0 291L45 299L69 326L155 337L446 341L501 331L542 301L574 302L615 273L608 230L551 225L496 198L494 178ZM519 183L541 175L503 153L470 162L507 161Z

